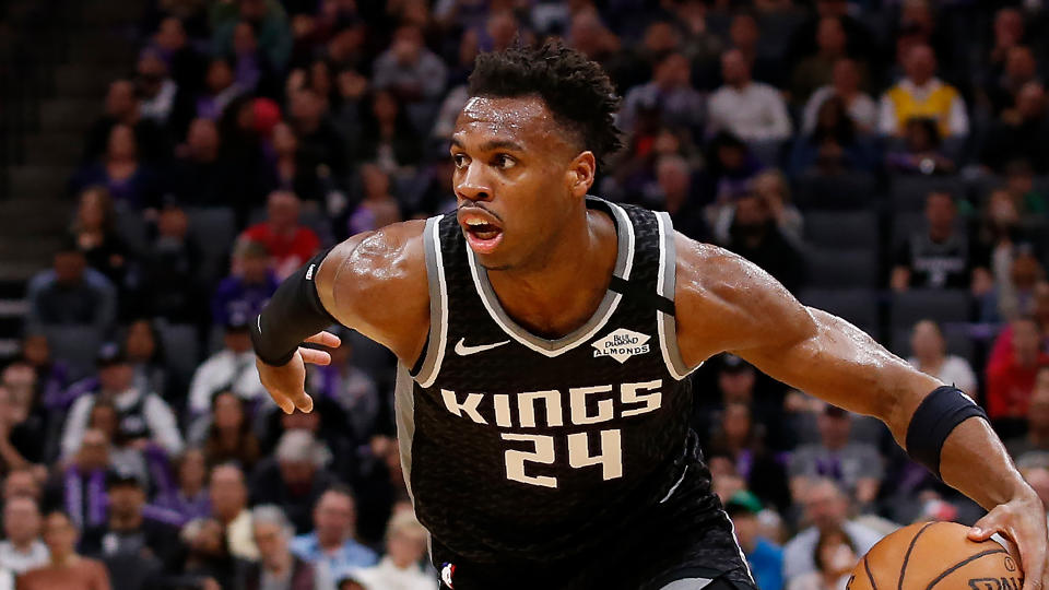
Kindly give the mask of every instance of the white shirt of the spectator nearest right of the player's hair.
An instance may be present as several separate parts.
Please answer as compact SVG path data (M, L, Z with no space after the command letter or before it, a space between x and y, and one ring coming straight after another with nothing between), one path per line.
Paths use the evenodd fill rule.
M721 86L710 96L707 110L709 131L728 130L744 141L786 140L790 117L779 91L763 82L741 88Z

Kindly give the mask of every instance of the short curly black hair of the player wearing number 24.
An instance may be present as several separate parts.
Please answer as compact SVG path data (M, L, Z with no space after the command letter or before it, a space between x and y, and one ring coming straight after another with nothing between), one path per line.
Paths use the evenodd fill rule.
M470 74L470 96L539 95L554 120L565 127L598 164L623 146L615 126L620 96L609 74L586 55L559 40L540 47L521 44L482 54Z

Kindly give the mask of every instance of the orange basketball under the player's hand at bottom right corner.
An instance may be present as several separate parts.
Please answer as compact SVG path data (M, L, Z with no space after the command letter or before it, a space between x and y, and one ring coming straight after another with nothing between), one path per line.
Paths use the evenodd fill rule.
M1019 590L1019 560L997 541L976 543L956 522L918 522L874 545L848 590Z

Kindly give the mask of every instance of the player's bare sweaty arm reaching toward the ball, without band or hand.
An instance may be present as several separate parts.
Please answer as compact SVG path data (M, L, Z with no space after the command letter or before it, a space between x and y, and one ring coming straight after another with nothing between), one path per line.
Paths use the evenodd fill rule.
M940 381L847 321L803 306L738 256L681 236L677 251L677 335L688 366L732 352L791 387L882 420L904 446L911 415ZM985 508L1033 494L980 420L947 438L941 474Z

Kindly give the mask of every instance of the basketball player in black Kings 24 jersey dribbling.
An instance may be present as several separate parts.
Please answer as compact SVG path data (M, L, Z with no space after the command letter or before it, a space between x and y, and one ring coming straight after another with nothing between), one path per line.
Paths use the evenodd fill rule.
M991 511L1029 588L1041 503L982 412L665 213L588 196L620 146L609 78L558 44L478 58L451 141L458 210L354 236L252 329L262 384L309 412L338 322L399 358L401 463L446 587L754 588L689 430L685 377L731 351L877 416Z

